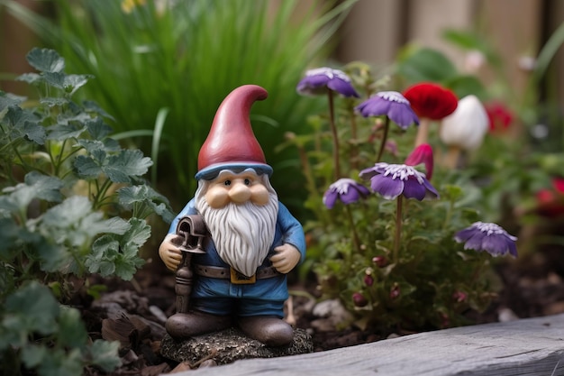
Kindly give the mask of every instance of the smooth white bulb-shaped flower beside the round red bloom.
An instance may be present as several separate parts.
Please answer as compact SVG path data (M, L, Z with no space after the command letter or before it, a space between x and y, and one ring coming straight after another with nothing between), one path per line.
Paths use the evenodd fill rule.
M442 119L441 141L463 150L476 150L482 144L489 127L486 109L477 96L459 100L456 110Z

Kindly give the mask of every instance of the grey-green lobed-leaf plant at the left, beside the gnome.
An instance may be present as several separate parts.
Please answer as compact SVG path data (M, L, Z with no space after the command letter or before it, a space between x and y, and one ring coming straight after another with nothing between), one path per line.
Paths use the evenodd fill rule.
M27 59L39 73L18 79L37 87L39 101L0 92L2 364L40 375L111 371L117 345L89 344L79 311L61 303L88 273L131 280L150 237L145 219L172 213L142 178L150 158L109 136L98 105L72 99L91 77L65 73L54 50Z

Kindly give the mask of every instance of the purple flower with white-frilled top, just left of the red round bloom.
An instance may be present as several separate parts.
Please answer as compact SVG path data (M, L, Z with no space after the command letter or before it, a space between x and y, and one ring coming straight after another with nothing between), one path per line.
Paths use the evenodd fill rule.
M407 129L412 123L419 124L409 101L397 91L380 91L357 105L356 109L364 117L387 115L402 129Z

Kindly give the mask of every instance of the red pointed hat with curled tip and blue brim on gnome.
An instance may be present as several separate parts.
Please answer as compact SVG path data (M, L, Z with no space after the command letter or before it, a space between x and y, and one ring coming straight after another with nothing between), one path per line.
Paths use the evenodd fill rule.
M198 154L196 179L214 179L220 170L253 168L272 174L250 126L250 107L267 91L256 85L235 88L217 109L214 123Z

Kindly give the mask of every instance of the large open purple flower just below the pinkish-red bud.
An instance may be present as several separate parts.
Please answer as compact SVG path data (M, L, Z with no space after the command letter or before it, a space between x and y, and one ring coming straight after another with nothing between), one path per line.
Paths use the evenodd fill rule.
M362 179L370 179L370 188L388 200L399 195L419 201L425 197L439 197L439 193L423 172L405 164L379 162L374 167L360 171L359 176Z

